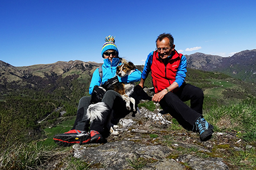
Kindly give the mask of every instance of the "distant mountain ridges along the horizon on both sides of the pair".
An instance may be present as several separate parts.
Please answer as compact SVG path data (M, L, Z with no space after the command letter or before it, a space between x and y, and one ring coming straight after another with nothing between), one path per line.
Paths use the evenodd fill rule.
M256 49L244 50L232 57L213 56L204 53L185 56L189 68L218 71L246 82L256 82ZM93 71L101 65L102 63L76 60L15 67L0 61L0 92L11 90L16 86L45 88L49 84L56 83L58 78L67 76L77 76L78 79L90 81ZM139 70L143 68L143 66L137 67Z

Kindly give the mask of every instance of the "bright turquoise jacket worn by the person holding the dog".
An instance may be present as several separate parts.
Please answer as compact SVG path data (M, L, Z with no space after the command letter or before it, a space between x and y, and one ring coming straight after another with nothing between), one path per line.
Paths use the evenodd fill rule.
M110 62L108 58L104 59L104 63L102 65L102 79L98 69L96 69L90 82L89 94L92 95L94 86L100 86L101 84L104 84L108 79L113 78L116 75L117 66L121 64L122 62L120 58L113 58L112 62ZM139 80L141 80L141 74L141 71L136 69L133 73L123 78L118 76L118 80L122 83L139 82Z

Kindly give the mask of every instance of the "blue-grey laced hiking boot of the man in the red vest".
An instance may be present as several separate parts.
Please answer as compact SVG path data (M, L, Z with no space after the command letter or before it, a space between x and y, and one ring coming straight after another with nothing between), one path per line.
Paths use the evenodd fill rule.
M201 141L207 141L212 137L213 125L209 124L203 117L199 117L196 120L194 127L199 133Z

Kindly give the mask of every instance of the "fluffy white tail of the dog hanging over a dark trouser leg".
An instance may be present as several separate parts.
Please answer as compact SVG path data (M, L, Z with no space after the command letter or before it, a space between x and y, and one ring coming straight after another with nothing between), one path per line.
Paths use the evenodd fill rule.
M99 102L96 104L90 104L87 109L86 116L90 121L96 120L103 120L102 113L108 110L108 105L104 102Z

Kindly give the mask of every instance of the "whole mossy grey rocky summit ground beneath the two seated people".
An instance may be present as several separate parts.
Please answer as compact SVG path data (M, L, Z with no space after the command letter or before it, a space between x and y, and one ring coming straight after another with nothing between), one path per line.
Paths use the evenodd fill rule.
M159 104L154 105L152 112L142 107L119 120L108 142L61 149L42 169L78 169L72 167L78 163L80 169L94 170L255 168L249 158L254 156L255 145L243 141L237 131L214 131L212 138L203 142L199 134L185 130Z

